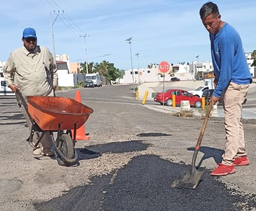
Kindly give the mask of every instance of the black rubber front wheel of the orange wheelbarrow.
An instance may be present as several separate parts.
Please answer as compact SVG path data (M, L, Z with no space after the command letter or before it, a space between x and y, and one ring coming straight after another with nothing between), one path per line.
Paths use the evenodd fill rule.
M59 150L61 150L61 152L67 159L73 159L75 157L73 140L71 139L70 135L68 134L61 135L58 148ZM69 166L71 164L70 162L67 162L61 159L61 156L56 152L56 150L55 150L55 156L59 165Z

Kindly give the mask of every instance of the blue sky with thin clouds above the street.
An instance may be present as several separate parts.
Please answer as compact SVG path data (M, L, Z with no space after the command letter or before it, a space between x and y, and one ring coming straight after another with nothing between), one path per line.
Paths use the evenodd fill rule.
M15 3L14 3L15 2ZM209 35L199 9L204 0L11 0L0 2L0 61L22 46L23 29L36 29L38 45L52 52L50 11L61 9L53 24L55 54L70 55L71 62L84 62L87 34L89 62L102 60L116 68L131 69L130 48L122 40L133 37L132 54L140 53L140 68L151 63L210 61ZM245 52L256 49L256 1L215 0L221 19L240 34ZM58 5L58 6L57 6ZM61 9L60 9L61 8ZM67 14L67 15L66 15ZM54 20L55 14L52 15ZM71 20L70 20L71 19ZM64 23L71 29L69 29ZM75 25L74 25L75 23ZM70 24L73 26L70 26ZM77 27L78 26L78 27ZM100 57L104 54L111 55ZM97 57L97 58L96 58ZM138 67L133 56L133 67Z

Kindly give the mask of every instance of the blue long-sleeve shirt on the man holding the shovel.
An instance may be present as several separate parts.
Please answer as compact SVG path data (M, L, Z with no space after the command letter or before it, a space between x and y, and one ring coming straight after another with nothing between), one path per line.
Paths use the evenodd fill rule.
M210 40L214 75L218 80L213 95L220 98L230 82L252 83L238 32L225 23L217 34L210 34Z

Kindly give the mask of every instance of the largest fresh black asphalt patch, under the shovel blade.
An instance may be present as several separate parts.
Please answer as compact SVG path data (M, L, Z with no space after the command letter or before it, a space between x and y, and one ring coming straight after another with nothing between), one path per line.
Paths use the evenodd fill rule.
M96 176L90 185L35 204L37 211L201 211L253 210L256 196L228 189L205 172L195 190L170 188L179 173L190 168L155 155L134 157L124 168Z

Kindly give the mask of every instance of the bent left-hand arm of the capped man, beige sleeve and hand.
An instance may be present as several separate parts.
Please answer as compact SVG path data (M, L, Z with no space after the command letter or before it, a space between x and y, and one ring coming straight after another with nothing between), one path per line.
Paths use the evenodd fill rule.
M6 81L6 85L11 88L13 92L16 92L16 90L19 89L14 84L14 73L15 73L15 64L12 58L12 54L9 56L8 60L6 61L6 64L3 66L3 77Z

